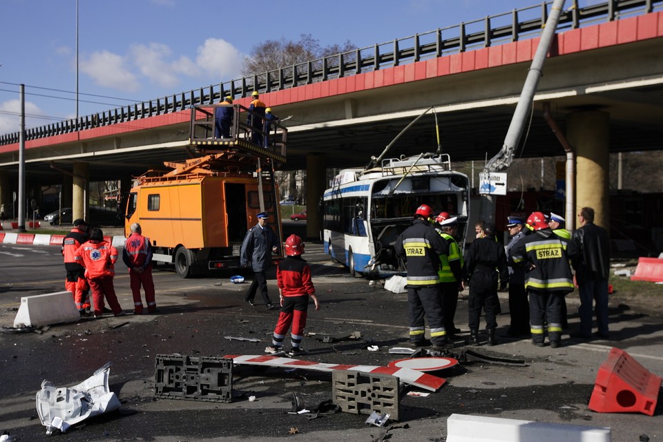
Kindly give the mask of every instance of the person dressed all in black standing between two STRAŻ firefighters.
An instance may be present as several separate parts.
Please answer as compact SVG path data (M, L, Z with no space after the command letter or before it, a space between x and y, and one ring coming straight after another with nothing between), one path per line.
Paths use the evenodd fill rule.
M506 265L504 247L495 241L494 224L484 224L478 233L479 238L472 241L465 255L465 280L470 285L468 298L468 324L470 325L470 345L479 345L479 317L481 309L486 314L488 345L496 345L497 329L497 279L500 289L506 289L509 271Z

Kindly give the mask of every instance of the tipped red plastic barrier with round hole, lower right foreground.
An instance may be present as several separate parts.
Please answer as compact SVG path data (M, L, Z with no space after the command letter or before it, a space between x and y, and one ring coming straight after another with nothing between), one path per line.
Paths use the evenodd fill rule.
M589 409L602 413L641 412L653 416L661 377L651 374L628 353L611 349L596 375Z

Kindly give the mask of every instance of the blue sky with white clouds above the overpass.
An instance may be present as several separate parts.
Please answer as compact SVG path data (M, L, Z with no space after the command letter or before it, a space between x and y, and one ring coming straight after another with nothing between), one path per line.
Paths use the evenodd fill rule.
M79 114L241 77L242 59L266 39L311 34L321 46L349 40L366 47L540 4L79 0ZM19 130L17 84L26 85L28 127L75 116L75 37L76 0L0 2L0 134Z

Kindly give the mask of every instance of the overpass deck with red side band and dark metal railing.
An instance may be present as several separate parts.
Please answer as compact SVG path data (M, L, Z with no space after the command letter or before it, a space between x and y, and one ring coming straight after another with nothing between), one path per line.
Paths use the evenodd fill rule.
M278 115L293 115L285 123L282 169L308 169L310 204L327 184L325 168L366 164L430 106L434 115L419 119L389 156L434 150L436 119L442 151L452 160L483 160L501 147L549 6L31 128L28 187L61 182L63 174L128 183L163 161L195 155L190 108L225 95L248 106L253 90ZM662 37L663 0L609 0L586 8L573 2L561 15L521 156L563 153L544 121L544 103L561 131L575 137L572 144L589 142L601 162L608 152L660 150ZM0 136L2 202L10 202L15 188L18 151L19 133Z

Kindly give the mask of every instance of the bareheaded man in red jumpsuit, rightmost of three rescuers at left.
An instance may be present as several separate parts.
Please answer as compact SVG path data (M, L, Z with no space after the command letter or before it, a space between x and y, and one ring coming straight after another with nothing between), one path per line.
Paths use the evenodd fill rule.
M150 238L141 235L140 224L131 224L131 235L124 242L122 260L129 268L131 293L133 294L133 314L143 313L143 302L140 299L140 286L145 290L147 311L153 313L157 309L154 300L154 281L152 280L152 244Z

